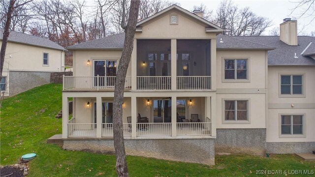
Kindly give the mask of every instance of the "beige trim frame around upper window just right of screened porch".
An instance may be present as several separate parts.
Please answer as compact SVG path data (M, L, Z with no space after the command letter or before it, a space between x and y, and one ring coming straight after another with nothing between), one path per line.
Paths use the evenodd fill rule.
M247 79L225 79L225 60L230 60L230 59L247 59ZM251 58L250 57L222 57L222 83L248 83L251 82ZM235 69L236 70L236 69Z

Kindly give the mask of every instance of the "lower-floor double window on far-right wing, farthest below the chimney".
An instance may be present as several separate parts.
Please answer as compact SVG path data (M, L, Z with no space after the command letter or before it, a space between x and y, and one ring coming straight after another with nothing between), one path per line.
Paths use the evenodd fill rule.
M281 115L281 137L304 137L304 115Z

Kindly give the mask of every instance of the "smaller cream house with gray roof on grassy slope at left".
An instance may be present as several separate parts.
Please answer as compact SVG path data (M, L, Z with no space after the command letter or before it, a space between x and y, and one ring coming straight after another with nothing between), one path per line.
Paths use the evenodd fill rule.
M0 29L0 45L3 29ZM1 95L9 96L50 83L51 72L64 71L65 49L42 37L11 31L5 51Z

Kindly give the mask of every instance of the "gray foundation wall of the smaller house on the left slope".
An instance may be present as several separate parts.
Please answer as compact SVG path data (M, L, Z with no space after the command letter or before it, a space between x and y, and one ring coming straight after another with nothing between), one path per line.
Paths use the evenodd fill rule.
M37 71L10 71L9 95L15 95L23 91L50 83L51 72Z

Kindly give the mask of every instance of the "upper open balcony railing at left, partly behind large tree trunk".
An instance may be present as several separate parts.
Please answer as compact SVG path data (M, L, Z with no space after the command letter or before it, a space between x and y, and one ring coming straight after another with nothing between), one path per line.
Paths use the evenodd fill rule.
M63 90L114 89L116 76L63 76ZM126 76L125 89L131 89L131 76Z

